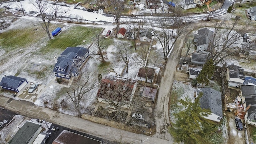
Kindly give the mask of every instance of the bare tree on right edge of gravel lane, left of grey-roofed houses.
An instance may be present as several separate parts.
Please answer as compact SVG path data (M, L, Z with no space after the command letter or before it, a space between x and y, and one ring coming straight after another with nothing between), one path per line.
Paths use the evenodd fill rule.
M188 31L185 31L183 36L184 36L185 44L184 44L184 47L182 49L186 49L186 53L184 55L184 58L182 59L182 62L180 62L179 70L181 70L182 64L185 62L186 57L188 55L192 54L192 53L190 53L191 48L194 48L193 39L191 38L193 36L191 36L191 33L188 32Z

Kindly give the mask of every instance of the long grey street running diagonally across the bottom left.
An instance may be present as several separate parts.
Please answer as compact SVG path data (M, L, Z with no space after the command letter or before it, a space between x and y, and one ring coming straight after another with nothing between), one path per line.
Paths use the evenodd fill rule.
M85 132L87 134L91 134L106 140L120 141L122 139L122 142L134 144L140 144L141 140L145 140L143 144L174 143L171 141L162 140L160 138L154 138L142 134L135 134L132 132L127 132L124 130L105 126L102 124L90 122L88 120L70 116L61 112L51 110L49 108L35 106L33 103L24 100L11 100L9 103L7 103L8 100L10 101L10 98L0 96L0 106L7 110L16 112L17 114L20 114L22 116L27 116L30 118L39 118L54 124L65 126L70 129Z

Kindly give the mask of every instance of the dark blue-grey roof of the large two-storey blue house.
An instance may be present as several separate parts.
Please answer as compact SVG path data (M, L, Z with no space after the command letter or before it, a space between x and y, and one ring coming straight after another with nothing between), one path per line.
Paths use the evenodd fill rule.
M53 72L68 75L70 72L76 73L76 67L72 67L73 60L82 59L89 50L84 47L68 47L58 57ZM65 72L57 71L56 67L60 67Z

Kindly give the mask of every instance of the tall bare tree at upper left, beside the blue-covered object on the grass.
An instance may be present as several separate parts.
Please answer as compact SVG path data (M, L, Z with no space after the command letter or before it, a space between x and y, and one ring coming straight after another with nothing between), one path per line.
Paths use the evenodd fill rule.
M52 38L49 32L50 22L56 18L60 18L68 10L59 8L59 5L55 4L55 0L53 4L48 3L47 0L30 0L30 2L40 12L40 18L43 21L41 23L42 28L47 32L48 38L51 40Z

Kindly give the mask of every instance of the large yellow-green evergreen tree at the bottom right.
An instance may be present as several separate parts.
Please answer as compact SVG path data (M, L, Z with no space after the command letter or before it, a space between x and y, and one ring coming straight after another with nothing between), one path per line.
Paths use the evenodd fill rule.
M204 144L208 140L206 136L212 134L216 130L214 122L203 118L211 114L210 110L200 108L199 100L202 93L199 94L193 103L188 97L185 100L179 100L185 110L182 110L174 116L177 118L173 124L170 133L177 142L184 144Z

